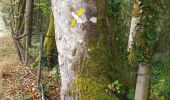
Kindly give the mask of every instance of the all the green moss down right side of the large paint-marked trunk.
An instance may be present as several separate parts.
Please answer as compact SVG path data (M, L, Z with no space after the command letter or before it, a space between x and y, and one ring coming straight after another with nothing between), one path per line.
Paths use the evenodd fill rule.
M116 48L113 23L107 24L107 1L96 3L97 24L90 26L90 31L85 40L88 57L81 56L75 66L79 66L76 85L73 94L80 100L117 100L115 96L109 96L105 88L108 84L120 78L121 62ZM87 15L88 16L88 15ZM112 20L113 21L113 20ZM112 47L113 46L113 47ZM113 51L112 51L113 50ZM84 59L85 58L85 59ZM122 70L122 69L121 69Z

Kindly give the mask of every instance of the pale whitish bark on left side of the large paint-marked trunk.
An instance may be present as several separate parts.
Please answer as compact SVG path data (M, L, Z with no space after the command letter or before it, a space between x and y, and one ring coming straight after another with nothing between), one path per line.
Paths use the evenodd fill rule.
M94 5L92 4L91 6ZM86 10L87 4L85 0L52 0L52 7L61 75L60 98L61 100L73 100L75 99L74 96L70 96L67 93L76 75L72 67L76 59L79 58L80 52L85 49L84 38L86 30L83 30L83 24L87 24L89 21L78 23L76 20L75 26L71 26L70 23L75 19L72 13L77 13L80 8ZM87 20L85 13L79 18L80 20Z

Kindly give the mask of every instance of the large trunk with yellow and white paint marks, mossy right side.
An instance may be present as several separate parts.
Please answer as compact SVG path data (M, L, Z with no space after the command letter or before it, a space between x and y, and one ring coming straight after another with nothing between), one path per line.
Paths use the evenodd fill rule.
M107 0L52 0L61 100L113 100L105 87L123 66ZM123 76L123 75L122 75Z

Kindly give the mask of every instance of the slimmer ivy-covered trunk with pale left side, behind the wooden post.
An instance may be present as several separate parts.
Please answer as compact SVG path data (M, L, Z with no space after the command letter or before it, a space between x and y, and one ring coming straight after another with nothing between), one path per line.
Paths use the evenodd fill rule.
M129 36L129 63L135 69L138 68L139 64L145 64L145 67L148 67L148 73L146 72L144 74L148 77L150 77L152 69L152 58L157 39L156 22L158 12L155 3L157 3L155 0L134 0ZM145 84L145 87L146 90L142 91L143 93L147 93L149 84ZM137 97L135 97L135 99L140 100L140 98Z

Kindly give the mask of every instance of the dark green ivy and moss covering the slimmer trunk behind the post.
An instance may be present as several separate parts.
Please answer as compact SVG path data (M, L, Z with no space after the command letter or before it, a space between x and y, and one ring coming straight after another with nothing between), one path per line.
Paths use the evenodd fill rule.
M158 12L152 7L154 1L151 1L142 2L141 10L143 12L140 16L136 37L134 38L134 43L128 57L133 67L138 66L139 63L152 63L155 41L158 36L155 30Z

